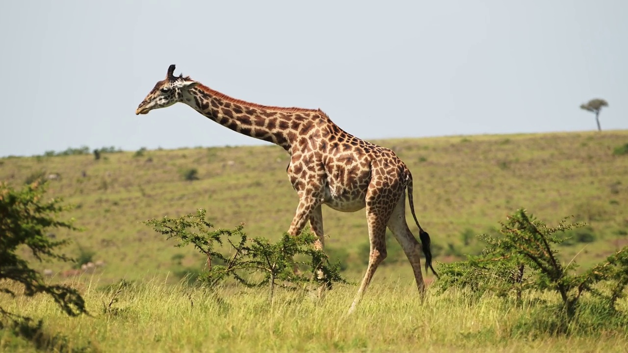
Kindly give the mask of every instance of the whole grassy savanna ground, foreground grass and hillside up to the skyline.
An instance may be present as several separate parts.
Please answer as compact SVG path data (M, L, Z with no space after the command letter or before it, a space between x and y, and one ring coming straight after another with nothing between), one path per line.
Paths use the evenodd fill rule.
M586 222L556 247L564 263L586 269L628 245L628 131L450 136L372 141L393 149L414 178L414 205L431 235L435 269L482 251L476 234L501 227L524 208L555 225ZM92 146L92 148L95 146ZM623 149L622 149L623 148ZM49 154L50 155L50 154ZM5 157L0 181L19 188L50 178L48 197L75 205L84 231L51 230L71 239L65 253L79 263L31 262L51 283L75 286L89 315L69 318L43 295L0 295L0 305L42 320L41 332L0 331L0 350L80 352L625 352L628 329L591 320L570 335L548 334L539 302L554 293L526 293L519 305L464 291L438 294L431 273L421 303L403 251L390 237L388 258L356 312L346 315L357 286L336 285L322 299L226 283L208 290L190 278L205 258L143 224L206 209L217 228L244 222L250 236L279 237L298 197L278 146L185 148L68 156ZM408 209L408 208L406 208ZM418 235L408 210L408 225ZM369 253L365 212L323 207L326 253L351 282ZM29 258L29 254L23 255ZM97 264L84 266L80 264ZM425 273L425 272L424 272ZM425 274L424 274L425 275ZM121 280L124 280L121 282ZM585 298L586 299L586 298ZM586 304L585 304L586 305ZM628 311L625 298L620 312ZM586 311L586 310L585 310ZM546 320L544 320L546 319Z

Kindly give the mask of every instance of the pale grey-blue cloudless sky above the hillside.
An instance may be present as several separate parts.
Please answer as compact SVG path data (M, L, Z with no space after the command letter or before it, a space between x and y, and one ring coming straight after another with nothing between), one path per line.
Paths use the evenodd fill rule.
M628 1L0 3L0 156L267 144L184 104L136 116L175 74L320 108L364 139L628 129Z

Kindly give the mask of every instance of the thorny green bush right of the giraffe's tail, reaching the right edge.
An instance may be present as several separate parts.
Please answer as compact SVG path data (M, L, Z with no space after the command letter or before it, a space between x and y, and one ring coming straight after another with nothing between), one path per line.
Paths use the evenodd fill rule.
M607 310L615 312L615 303L628 286L628 247L575 274L577 265L562 264L552 245L566 239L556 234L579 227L583 224L565 224L565 220L558 227L548 227L525 210L517 210L502 224L499 236L479 236L487 244L483 254L443 264L436 285L440 293L448 288L466 288L476 295L487 291L502 296L516 293L519 299L527 290L553 291L561 298L561 327L565 330L577 317L584 293L596 296Z

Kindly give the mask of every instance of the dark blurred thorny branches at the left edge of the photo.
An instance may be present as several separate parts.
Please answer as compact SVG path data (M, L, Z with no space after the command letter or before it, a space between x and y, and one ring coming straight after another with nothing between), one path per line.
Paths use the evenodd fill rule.
M19 256L19 249L26 247L36 261L72 261L58 253L58 248L67 241L56 241L47 234L51 228L78 229L72 225L72 220L63 221L55 217L69 207L61 205L62 200L58 198L44 201L44 192L45 184L38 182L26 185L22 190L0 183L0 293L13 297L17 293L26 296L43 293L51 296L67 315L86 313L85 302L77 290L47 284L43 276ZM15 325L24 325L24 322L28 325L30 322L30 318L0 307L0 328L6 319Z

